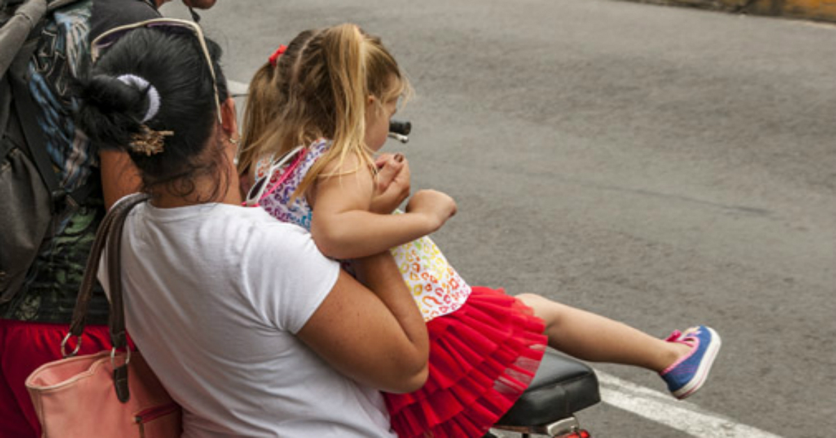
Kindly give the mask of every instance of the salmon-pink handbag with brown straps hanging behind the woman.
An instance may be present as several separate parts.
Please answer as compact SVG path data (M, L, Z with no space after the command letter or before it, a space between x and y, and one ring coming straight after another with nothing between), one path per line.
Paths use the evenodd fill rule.
M125 217L147 197L120 199L104 217L90 251L69 333L61 343L64 359L34 370L26 380L43 438L175 438L182 433L181 407L157 380L139 352L126 348L125 309L120 282L120 246ZM72 357L66 343L84 333L99 259L107 244L110 278L111 350Z

